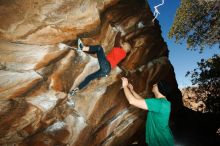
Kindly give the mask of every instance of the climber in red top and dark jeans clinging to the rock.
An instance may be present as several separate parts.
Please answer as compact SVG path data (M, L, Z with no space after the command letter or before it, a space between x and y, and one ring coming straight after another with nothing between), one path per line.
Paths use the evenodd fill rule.
M97 55L100 69L90 75L88 75L77 87L72 87L70 95L74 96L79 90L84 88L90 81L107 76L111 69L115 68L120 63L126 54L130 51L131 46L128 42L124 42L121 39L121 33L118 33L115 38L115 44L112 50L105 56L102 46L84 46L81 40L78 40L78 48L84 52Z

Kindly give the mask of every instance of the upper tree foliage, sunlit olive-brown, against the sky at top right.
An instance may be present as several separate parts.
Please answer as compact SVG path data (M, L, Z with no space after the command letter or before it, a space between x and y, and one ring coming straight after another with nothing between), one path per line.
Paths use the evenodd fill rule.
M186 40L188 49L219 47L220 1L181 0L169 37L175 38L176 43Z

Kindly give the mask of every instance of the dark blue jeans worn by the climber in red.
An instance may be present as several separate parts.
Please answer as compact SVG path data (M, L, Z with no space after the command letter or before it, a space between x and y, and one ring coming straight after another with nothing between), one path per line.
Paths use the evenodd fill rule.
M105 53L103 51L103 48L100 45L90 46L88 53L92 53L97 55L100 69L90 75L88 75L78 86L79 89L84 88L90 81L99 78L104 77L108 75L111 71L111 65L109 61L105 57Z

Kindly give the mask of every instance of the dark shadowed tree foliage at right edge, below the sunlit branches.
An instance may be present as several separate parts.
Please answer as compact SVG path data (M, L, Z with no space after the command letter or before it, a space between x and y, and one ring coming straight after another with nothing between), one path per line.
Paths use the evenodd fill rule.
M187 72L192 83L198 85L197 97L206 96L206 107L209 112L220 113L220 56L214 55L208 60L197 63L198 68Z

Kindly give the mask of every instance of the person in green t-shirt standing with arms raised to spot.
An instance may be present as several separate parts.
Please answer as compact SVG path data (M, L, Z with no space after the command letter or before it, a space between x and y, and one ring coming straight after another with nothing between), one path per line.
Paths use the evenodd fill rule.
M142 98L128 83L128 79L122 77L122 87L125 96L131 105L148 110L146 121L146 143L149 146L173 146L174 138L169 128L171 103L167 100L171 88L166 81L158 81L153 84L152 92L155 98Z

